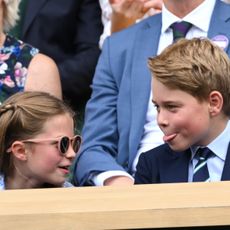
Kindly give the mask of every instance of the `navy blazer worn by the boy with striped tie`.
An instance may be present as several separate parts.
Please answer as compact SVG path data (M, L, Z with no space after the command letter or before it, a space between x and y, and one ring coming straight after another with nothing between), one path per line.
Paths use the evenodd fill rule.
M190 150L173 151L168 144L142 153L135 174L136 184L188 182ZM230 180L230 145L221 180Z

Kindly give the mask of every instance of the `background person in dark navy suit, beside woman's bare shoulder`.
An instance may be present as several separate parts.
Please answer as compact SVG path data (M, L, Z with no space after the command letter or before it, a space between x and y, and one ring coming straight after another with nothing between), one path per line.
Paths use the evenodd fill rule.
M95 0L28 0L20 38L58 65L64 97L79 108L89 98L103 27ZM45 84L45 83L44 83Z

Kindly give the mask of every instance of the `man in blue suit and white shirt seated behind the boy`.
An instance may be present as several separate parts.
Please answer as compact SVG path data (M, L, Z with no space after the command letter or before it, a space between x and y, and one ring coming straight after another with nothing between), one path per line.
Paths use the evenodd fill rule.
M135 172L140 153L162 143L147 58L172 43L170 26L181 20L193 25L187 38L222 39L230 54L229 12L229 5L220 0L164 0L162 14L107 39L87 104L75 183L133 184L129 174Z

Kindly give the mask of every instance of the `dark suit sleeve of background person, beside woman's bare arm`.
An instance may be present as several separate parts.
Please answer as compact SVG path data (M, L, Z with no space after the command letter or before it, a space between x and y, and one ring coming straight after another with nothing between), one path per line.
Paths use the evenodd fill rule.
M73 55L57 63L64 95L71 99L71 104L79 103L82 98L89 98L89 86L100 54L99 38L103 30L98 1L82 1L76 14Z

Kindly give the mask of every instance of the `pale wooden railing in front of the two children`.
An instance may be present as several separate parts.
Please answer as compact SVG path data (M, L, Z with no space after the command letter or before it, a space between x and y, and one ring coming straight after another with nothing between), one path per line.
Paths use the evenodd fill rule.
M1 230L223 225L230 226L230 182L0 192Z

